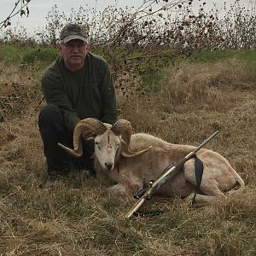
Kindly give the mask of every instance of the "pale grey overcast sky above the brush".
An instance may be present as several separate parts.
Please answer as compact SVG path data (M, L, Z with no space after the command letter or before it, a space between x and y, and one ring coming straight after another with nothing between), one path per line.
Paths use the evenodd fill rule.
M212 4L216 3L218 9L224 7L224 2L226 2L229 7L230 4L235 3L236 0L194 0L193 6L195 9L198 8L199 4L206 2L207 9L212 8ZM251 0L252 1L252 0ZM253 0L256 1L256 0ZM0 0L1 10L0 10L0 22L3 21L14 8L16 0ZM162 2L162 1L159 1ZM26 18L20 18L20 15L16 15L15 18L11 20L12 26L25 26L28 32L33 32L38 27L44 27L46 24L46 16L48 12L57 5L57 9L60 12L65 12L67 17L69 16L71 9L78 10L80 6L86 7L86 4L90 8L95 8L97 10L102 10L108 5L114 5L120 8L125 6L138 7L143 3L143 0L31 0L29 3L30 15ZM240 0L241 5L246 5L249 0Z

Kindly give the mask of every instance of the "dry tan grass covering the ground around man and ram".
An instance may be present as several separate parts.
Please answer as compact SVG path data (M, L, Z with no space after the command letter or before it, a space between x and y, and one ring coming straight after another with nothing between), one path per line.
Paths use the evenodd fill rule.
M21 74L17 70L19 83L26 84ZM15 80L3 73L1 79ZM256 74L237 61L186 64L166 68L151 95L129 94L121 101L122 116L135 131L172 143L196 145L219 129L207 148L224 154L246 182L244 193L212 207L150 201L146 209L168 210L154 218L126 220L132 196L104 195L102 184L86 172L38 189L44 176L39 90L33 89L34 101L14 101L19 113L0 124L0 255L255 255L255 81Z

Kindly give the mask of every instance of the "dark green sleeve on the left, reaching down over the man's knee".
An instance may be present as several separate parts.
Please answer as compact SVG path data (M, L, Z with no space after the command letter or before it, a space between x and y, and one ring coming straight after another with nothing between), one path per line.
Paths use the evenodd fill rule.
M73 132L80 119L61 88L61 82L54 76L43 76L41 86L45 101L61 108L67 129Z

